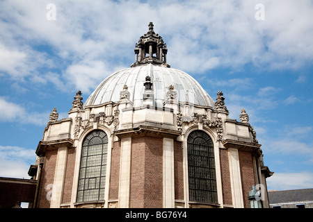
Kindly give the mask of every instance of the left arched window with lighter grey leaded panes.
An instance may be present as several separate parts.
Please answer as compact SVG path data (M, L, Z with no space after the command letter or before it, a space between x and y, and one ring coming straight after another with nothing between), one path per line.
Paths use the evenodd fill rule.
M102 130L89 133L83 140L77 202L104 200L108 137Z

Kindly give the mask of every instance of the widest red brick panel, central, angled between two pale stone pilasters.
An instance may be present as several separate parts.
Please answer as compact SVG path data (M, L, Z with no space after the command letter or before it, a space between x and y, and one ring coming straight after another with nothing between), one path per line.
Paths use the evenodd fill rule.
M131 139L130 207L163 205L163 139Z

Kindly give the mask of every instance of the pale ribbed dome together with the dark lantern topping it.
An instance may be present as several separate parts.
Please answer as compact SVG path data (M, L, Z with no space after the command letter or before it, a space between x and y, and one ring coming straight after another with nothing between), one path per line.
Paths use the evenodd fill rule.
M150 99L149 105L161 108L168 96L172 96L172 102L179 104L214 108L214 101L194 78L184 71L170 68L166 63L166 43L154 33L153 26L150 22L149 31L136 43L134 64L103 80L89 96L85 107L118 102L124 93L134 108L147 105L144 103L147 98Z

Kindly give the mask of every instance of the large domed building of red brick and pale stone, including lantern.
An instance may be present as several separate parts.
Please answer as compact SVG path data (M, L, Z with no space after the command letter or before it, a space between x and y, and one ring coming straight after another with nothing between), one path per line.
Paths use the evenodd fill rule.
M171 68L152 23L134 51L85 103L77 92L67 118L51 112L34 207L250 207L253 185L268 207L273 173L246 111L229 119L222 92L214 101Z

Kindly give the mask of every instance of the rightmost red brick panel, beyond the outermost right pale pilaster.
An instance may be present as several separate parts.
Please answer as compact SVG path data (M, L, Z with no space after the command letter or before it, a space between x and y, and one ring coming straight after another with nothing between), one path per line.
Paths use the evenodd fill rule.
M251 190L252 185L255 185L255 172L253 168L252 154L246 151L239 151L239 164L241 173L243 204L245 208L249 208L249 191Z

